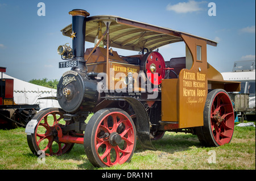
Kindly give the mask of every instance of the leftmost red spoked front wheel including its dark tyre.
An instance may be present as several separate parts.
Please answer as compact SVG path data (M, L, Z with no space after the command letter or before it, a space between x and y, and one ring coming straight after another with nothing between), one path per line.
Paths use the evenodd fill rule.
M41 150L47 156L62 155L73 148L74 144L61 143L57 138L57 126L63 127L71 123L63 120L64 113L60 108L47 108L36 113L31 120L33 124L27 124L27 127L34 127L34 131L27 133L27 142L32 153L39 156L39 150Z

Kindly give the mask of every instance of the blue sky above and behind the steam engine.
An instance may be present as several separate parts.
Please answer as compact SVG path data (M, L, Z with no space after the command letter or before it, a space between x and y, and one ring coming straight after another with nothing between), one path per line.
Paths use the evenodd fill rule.
M46 5L46 16L38 16L38 3ZM216 16L209 16L208 4L216 4ZM218 71L231 71L237 60L255 60L254 0L164 0L164 1L4 1L0 0L0 66L7 74L30 81L59 79L69 70L59 69L57 47L72 43L60 30L72 23L72 9L94 15L117 15L168 27L218 41L208 45L208 62ZM92 44L86 43L86 48ZM159 48L165 60L184 56L183 43ZM128 55L134 52L123 52Z

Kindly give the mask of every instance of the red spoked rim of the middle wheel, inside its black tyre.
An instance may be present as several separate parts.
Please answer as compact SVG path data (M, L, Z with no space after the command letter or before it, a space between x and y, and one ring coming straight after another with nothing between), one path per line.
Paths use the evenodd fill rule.
M111 135L119 135L122 142L115 145ZM120 112L111 112L98 124L94 145L98 158L106 166L121 165L129 159L134 149L134 128L128 117Z

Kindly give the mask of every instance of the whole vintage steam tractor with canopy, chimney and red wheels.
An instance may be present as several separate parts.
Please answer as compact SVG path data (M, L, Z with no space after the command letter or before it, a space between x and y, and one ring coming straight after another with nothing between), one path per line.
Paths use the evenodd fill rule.
M118 16L69 14L72 24L61 32L72 48L61 45L58 53L67 60L60 68L72 68L57 86L61 109L38 112L26 127L34 154L61 155L84 144L89 161L104 167L130 161L137 140L155 150L151 140L166 131L197 134L206 146L230 142L234 113L226 91L239 91L240 83L224 81L207 63L207 44L216 42ZM95 47L85 50L85 41ZM164 61L158 48L180 41L186 56ZM119 56L112 47L139 54Z

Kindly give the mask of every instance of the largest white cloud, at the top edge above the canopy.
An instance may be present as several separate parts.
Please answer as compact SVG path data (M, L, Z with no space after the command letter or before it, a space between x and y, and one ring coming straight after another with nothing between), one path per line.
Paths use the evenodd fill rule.
M200 7L201 3L205 3L205 1L198 2L189 0L188 2L179 2L176 5L168 4L166 9L168 11L175 11L177 13L202 11L204 9Z

